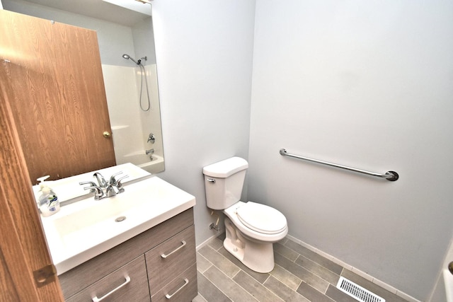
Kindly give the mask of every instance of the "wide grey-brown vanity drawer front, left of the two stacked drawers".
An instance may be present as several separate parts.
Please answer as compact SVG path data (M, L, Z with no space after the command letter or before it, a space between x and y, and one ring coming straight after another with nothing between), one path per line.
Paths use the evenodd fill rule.
M84 276L80 276L80 278L84 278ZM112 293L108 294L110 291ZM143 255L88 286L67 299L67 302L92 302L93 298L101 299L107 294L108 296L102 301L150 301L147 269Z

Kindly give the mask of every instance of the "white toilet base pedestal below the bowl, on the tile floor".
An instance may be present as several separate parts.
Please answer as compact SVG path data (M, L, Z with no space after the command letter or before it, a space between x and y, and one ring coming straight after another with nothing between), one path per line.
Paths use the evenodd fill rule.
M273 243L258 242L244 236L228 218L225 218L225 230L224 248L243 265L260 273L267 273L274 269Z

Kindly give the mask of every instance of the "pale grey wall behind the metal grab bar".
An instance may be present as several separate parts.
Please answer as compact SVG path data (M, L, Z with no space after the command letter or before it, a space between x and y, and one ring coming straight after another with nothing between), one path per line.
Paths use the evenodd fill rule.
M453 2L258 0L255 26L248 198L425 301L453 230Z

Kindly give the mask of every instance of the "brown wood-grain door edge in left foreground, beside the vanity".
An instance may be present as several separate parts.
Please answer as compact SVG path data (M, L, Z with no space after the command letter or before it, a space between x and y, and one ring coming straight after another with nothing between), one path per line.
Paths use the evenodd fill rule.
M45 285L34 278L34 272L52 262L8 102L6 91L11 87L4 72L0 72L0 83L0 301L63 301L55 275Z

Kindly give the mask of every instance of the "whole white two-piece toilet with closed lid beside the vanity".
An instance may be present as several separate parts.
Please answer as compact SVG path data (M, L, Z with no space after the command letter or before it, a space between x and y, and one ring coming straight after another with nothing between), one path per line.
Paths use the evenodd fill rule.
M224 248L255 272L274 268L273 243L285 238L285 215L256 202L241 202L248 163L228 158L203 168L207 207L226 215Z

